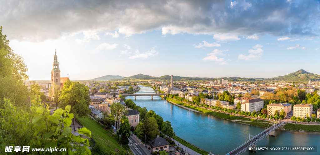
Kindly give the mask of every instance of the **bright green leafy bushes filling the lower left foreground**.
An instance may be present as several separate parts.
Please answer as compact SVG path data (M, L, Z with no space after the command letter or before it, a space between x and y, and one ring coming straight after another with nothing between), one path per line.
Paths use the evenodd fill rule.
M49 106L44 108L40 99L35 99L29 111L24 111L13 106L9 99L4 99L6 109L0 110L5 118L0 118L2 125L0 130L1 149L5 146L30 146L31 148L67 148L67 152L57 154L91 154L87 148L89 140L81 138L81 135L91 137L91 131L83 127L77 132L71 133L71 119L74 117L70 106L65 110L55 110L50 116ZM62 127L64 126L64 127ZM46 154L46 152L39 152Z

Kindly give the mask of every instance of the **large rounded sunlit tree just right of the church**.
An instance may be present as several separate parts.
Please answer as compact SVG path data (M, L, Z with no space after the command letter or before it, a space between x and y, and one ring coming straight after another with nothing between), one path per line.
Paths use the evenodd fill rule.
M91 99L89 98L89 90L87 86L79 82L67 80L63 83L61 94L61 108L64 109L67 105L71 106L71 113L78 117L84 117L90 114L88 109ZM73 122L75 125L75 120Z

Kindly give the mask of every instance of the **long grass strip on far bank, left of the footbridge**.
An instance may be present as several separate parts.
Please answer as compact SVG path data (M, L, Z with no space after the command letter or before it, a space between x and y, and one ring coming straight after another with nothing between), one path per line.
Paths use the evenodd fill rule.
M186 104L186 103L174 100L174 99L169 98L167 96L163 96L163 98L165 100L177 103L179 105L188 107L190 109L197 110L197 111L200 111L200 112L212 115L212 116L216 116L216 117L219 117L219 118L223 118L223 119L228 119L228 120L236 120L237 119L237 120L246 120L246 121L252 121L252 122L267 122L265 120L259 120L259 119L253 119L253 118L245 118L245 117L240 117L240 116L235 116L235 115L230 115L230 114L226 114L226 113L222 113L222 112L217 112L217 111L212 111L212 110L200 108L200 107L197 107L197 106L194 106L194 105L190 105L190 104Z

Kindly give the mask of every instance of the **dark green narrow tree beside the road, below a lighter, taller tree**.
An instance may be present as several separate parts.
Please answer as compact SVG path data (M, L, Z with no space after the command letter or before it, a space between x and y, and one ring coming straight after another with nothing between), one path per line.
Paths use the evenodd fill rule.
M130 123L129 119L125 116L122 115L121 117L121 124L119 128L119 134L121 135L120 143L122 144L128 144L129 143L129 137L131 135L130 132Z

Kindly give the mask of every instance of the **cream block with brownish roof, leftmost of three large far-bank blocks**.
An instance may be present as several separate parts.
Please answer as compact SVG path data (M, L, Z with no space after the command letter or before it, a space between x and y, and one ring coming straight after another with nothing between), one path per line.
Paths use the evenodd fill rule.
M260 98L248 99L247 101L241 103L241 111L245 112L260 111L262 108L263 100Z

